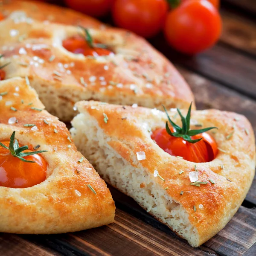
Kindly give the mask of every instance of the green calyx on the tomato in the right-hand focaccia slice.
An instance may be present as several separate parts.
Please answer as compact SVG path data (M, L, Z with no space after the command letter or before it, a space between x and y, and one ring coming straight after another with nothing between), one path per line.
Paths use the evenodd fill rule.
M195 135L201 134L203 132L209 131L211 129L218 129L218 128L217 127L208 127L208 128L204 128L204 129L190 130L191 106L192 106L192 102L189 106L189 110L188 110L188 113L187 113L186 117L184 117L182 115L182 113L180 112L180 110L177 108L177 112L178 112L178 114L180 115L180 118L181 118L182 127L175 124L175 122L173 122L171 120L165 106L163 106L163 108L164 108L164 111L166 112L168 121L170 122L170 124L172 125L172 127L175 130L174 132L172 132L171 129L169 128L168 121L166 121L166 131L167 131L167 133L169 135L171 135L172 137L181 137L181 138L183 138L183 140L194 144L194 143L197 143L200 140L202 140L203 137L192 140L191 136L195 136Z

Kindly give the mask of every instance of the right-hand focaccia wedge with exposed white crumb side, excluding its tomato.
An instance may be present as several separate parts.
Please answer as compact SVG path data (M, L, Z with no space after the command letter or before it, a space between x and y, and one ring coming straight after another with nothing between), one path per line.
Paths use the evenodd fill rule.
M218 128L209 131L218 146L215 159L193 163L168 154L151 139L152 131L166 125L162 111L93 101L76 106L80 113L72 121L73 140L103 179L193 247L220 231L241 205L255 168L254 135L244 116L193 111L190 127ZM177 111L169 115L181 124Z

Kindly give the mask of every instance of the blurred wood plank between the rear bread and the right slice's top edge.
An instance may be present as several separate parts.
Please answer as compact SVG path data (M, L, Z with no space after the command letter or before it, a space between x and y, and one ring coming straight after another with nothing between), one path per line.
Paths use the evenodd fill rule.
M256 134L256 101L243 96L234 90L223 87L221 84L178 67L192 91L198 109L216 108L223 111L233 111L246 116L253 126ZM256 177L246 196L246 200L256 205Z

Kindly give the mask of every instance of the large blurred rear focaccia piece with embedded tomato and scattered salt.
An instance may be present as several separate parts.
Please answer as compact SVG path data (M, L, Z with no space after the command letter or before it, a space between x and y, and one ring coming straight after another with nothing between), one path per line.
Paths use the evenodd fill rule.
M6 78L27 77L46 110L61 120L70 121L74 103L83 99L148 108L188 108L193 100L175 67L143 38L26 15L30 11L11 13L0 22L0 65L11 63Z

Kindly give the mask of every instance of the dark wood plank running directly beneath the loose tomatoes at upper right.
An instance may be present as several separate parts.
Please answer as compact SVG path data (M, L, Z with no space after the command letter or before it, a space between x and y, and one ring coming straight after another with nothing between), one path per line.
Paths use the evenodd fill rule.
M256 99L256 59L219 44L190 57L172 50L161 36L151 43L175 64Z

